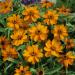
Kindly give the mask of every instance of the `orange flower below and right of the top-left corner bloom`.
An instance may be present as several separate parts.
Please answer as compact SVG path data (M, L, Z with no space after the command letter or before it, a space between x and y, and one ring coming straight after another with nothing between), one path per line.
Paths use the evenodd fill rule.
M13 29L19 29L22 25L22 19L20 18L20 15L13 14L7 18L7 21L7 26Z

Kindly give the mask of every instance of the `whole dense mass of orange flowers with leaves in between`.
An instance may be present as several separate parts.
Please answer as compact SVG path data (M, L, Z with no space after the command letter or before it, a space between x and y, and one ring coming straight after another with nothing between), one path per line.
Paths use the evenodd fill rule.
M5 29L10 31L0 35L0 59L5 63L18 62L12 75L33 75L33 66L51 58L65 68L73 64L75 38L70 36L66 23L59 22L61 16L68 17L69 9L53 9L53 5L48 1L36 6L21 4L23 10L15 13L14 2L0 2L0 14L10 14L5 18ZM44 75L40 69L36 69L36 74Z

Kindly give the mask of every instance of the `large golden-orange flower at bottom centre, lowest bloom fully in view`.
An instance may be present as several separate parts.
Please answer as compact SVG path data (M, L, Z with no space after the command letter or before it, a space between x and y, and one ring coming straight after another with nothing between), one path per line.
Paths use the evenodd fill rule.
M35 64L43 57L41 51L42 50L39 49L37 45L28 46L27 49L24 50L23 56L28 62Z

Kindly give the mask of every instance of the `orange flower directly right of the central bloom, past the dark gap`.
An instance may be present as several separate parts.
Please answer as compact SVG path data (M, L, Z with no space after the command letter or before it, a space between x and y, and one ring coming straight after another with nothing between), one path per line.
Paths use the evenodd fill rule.
M54 38L58 40L64 40L68 36L67 27L64 25L56 25L52 33L54 34Z

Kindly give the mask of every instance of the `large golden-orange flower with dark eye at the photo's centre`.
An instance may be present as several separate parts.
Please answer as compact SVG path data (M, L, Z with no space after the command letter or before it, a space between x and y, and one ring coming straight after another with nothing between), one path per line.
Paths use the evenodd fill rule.
M30 38L34 41L44 41L47 39L47 26L38 23L36 26L29 28Z

